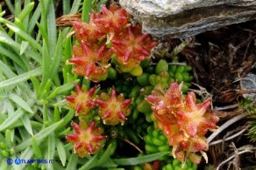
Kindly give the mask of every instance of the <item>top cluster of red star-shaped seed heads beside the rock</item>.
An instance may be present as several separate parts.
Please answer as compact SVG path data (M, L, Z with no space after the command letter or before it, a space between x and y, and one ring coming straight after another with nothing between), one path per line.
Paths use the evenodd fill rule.
M90 15L89 24L82 20L73 22L79 44L74 45L69 63L75 65L76 74L93 82L108 77L113 54L120 71L132 71L156 45L139 25L129 24L130 15L123 8L111 4L109 9L103 6L101 10Z

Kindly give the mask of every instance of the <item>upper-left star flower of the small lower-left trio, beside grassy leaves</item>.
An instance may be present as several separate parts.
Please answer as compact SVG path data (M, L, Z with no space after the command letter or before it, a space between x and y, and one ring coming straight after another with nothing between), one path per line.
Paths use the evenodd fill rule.
M93 99L96 86L91 88L89 92L83 92L81 87L75 83L76 92L72 92L71 96L67 96L68 106L75 109L75 115L78 116L80 113L88 113L92 108L96 106Z

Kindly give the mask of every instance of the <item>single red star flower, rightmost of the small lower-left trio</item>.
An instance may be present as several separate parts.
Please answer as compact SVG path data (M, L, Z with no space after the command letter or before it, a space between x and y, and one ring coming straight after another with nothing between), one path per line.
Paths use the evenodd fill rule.
M115 126L119 122L124 125L126 116L131 113L128 105L132 103L132 99L124 99L123 94L117 96L117 92L112 87L110 96L102 94L102 99L96 99L96 105L99 106L99 115L103 119L103 123Z

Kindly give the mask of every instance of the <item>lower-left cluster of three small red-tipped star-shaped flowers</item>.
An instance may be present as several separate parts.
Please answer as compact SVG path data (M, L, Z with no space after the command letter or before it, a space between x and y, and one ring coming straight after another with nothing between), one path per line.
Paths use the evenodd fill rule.
M111 88L110 94L102 92L100 95L95 94L96 86L89 91L83 91L82 87L75 84L75 89L76 92L72 92L66 99L68 106L75 110L75 116L79 117L80 126L73 122L75 134L68 134L66 138L68 142L75 144L75 153L84 157L102 148L106 139L106 136L102 135L103 127L96 116L99 115L105 125L124 125L126 116L131 112L129 105L132 99L124 99L122 93L117 95L114 87Z

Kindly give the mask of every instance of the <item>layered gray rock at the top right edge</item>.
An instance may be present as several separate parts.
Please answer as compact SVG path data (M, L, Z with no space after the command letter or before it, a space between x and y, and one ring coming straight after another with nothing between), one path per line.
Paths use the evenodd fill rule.
M190 37L256 18L256 0L120 0L146 33Z

